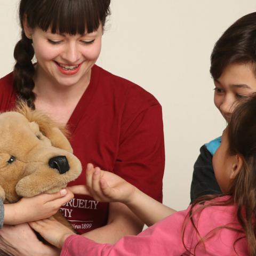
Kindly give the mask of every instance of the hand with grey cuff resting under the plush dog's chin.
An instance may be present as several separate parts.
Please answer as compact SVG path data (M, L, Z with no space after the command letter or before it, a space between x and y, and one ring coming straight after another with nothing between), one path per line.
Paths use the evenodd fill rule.
M17 203L4 205L4 223L15 225L49 218L73 197L74 194L67 188L54 194L23 197Z

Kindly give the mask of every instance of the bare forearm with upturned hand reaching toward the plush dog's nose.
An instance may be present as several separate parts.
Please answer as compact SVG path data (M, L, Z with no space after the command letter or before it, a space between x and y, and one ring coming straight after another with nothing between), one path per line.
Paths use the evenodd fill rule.
M147 226L151 226L175 212L118 175L102 171L98 167L94 168L92 164L87 165L86 186L74 186L70 190L75 194L91 195L101 202L121 202L129 207Z

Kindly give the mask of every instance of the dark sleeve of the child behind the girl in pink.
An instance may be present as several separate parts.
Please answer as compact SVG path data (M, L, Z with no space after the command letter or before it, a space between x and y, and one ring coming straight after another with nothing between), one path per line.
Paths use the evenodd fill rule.
M200 148L195 165L190 188L191 203L199 196L221 194L220 187L214 175L212 155L206 148Z

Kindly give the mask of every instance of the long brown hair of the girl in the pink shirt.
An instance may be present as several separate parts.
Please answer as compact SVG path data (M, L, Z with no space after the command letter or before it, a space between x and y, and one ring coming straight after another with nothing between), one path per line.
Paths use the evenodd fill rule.
M243 161L241 170L237 174L235 180L231 183L228 192L228 195L231 197L227 201L207 204L204 204L204 202L221 195L200 197L192 204L187 218L190 219L198 233L193 220L195 212L202 211L205 207L213 205L225 206L235 204L237 206L237 220L241 224L242 229L224 226L215 228L210 233L213 234L214 231L218 231L218 229L221 228L235 230L238 233L241 233L241 237L238 238L238 240L246 237L250 255L256 256L256 93L251 94L249 97L238 103L226 130L229 144L228 154L231 156L239 155ZM194 206L197 204L202 204L202 206L194 211ZM186 224L183 231L183 237L185 231ZM204 241L204 239L207 239L210 233L202 238L201 241L198 241L197 245ZM235 241L235 243L237 241ZM196 255L196 248L190 253Z

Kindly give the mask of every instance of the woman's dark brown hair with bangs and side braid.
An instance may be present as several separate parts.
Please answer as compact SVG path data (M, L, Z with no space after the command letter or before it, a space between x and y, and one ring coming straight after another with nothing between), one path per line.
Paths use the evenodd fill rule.
M21 0L19 19L21 24L21 40L14 49L14 89L18 98L25 100L31 108L35 108L33 89L35 68L32 63L34 49L32 40L27 38L23 29L23 20L27 19L32 29L38 27L52 33L81 34L91 33L99 25L105 25L110 0Z

